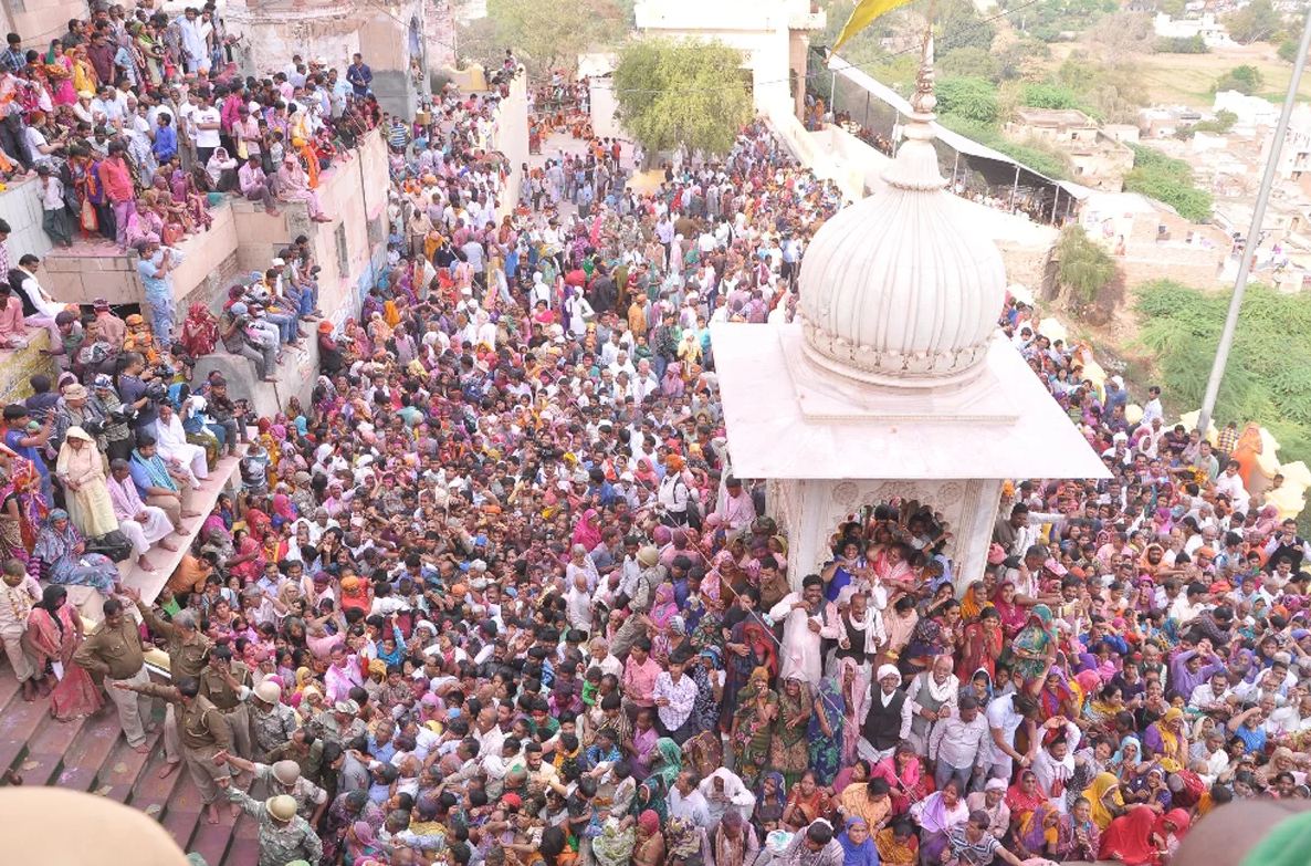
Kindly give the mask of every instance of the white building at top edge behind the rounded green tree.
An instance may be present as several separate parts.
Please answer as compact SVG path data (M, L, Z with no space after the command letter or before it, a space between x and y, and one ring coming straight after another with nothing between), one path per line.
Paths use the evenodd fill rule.
M637 29L686 39L717 39L743 51L756 110L791 110L805 100L808 34L825 13L812 0L637 0Z

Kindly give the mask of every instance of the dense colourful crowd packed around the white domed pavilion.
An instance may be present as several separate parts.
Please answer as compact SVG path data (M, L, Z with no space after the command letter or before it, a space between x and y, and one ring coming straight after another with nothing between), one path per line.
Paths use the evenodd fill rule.
M321 115L334 147L384 122L370 75ZM24 697L113 707L206 820L258 823L261 866L1160 866L1219 803L1311 796L1308 550L1249 436L1167 428L1159 391L1130 421L1012 300L1112 478L1015 479L978 581L931 503L868 504L794 562L732 474L709 325L791 320L840 194L754 123L652 192L593 142L509 202L498 93L385 121L387 262L341 328L302 331L303 239L178 333L54 315L66 369L0 450ZM269 375L303 339L321 375L273 417L190 377L220 344ZM195 514L245 438L240 491ZM123 584L115 560L193 534L157 598ZM69 585L106 596L94 629Z

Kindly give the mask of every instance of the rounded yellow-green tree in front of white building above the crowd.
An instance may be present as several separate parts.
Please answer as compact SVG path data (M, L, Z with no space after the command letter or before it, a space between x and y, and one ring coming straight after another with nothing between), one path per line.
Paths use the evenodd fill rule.
M612 81L624 129L650 152L684 144L726 154L751 119L742 52L720 42L629 42Z

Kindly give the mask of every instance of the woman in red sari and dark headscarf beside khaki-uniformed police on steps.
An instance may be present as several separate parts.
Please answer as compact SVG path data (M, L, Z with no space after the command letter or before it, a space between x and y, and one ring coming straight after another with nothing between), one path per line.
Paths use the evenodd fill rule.
M46 587L28 617L26 636L37 669L59 681L50 694L50 715L60 722L90 715L102 706L100 689L90 674L73 664L73 653L83 642L83 627L77 611L66 604L67 598L64 587Z

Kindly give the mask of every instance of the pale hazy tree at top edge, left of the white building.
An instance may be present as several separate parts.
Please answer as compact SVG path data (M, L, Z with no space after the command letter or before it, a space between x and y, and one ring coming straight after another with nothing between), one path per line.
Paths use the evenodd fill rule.
M616 43L628 29L624 14L615 0L488 0L497 45L539 72Z

